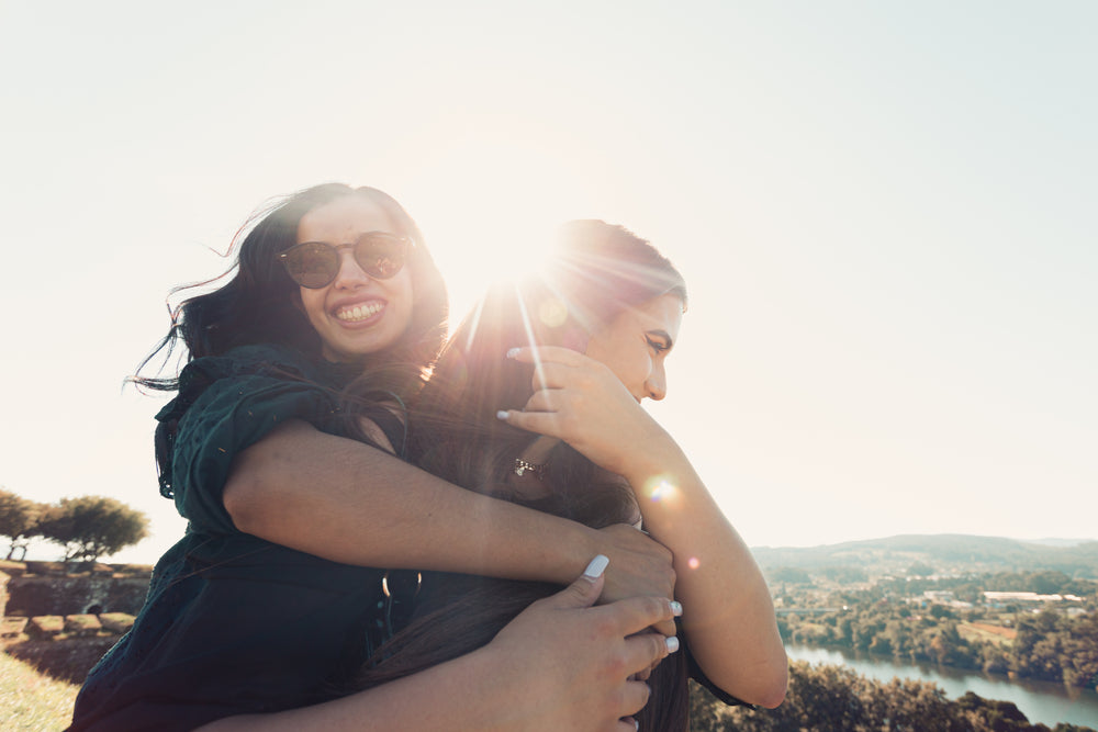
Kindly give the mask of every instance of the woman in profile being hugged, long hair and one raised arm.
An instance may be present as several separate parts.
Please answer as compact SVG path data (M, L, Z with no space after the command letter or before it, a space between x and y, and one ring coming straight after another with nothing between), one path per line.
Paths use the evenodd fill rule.
M621 227L582 221L562 234L539 274L491 290L456 330L413 412L411 459L472 491L591 526L642 526L673 551L687 653L648 679L641 729L686 729L687 673L726 701L774 707L787 662L763 577L682 450L640 406L666 394L683 279ZM427 573L416 620L359 682L486 643L550 592Z

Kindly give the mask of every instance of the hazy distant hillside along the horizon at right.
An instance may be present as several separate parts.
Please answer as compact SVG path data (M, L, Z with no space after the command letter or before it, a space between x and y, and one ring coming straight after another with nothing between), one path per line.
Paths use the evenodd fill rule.
M900 573L914 564L939 574L959 572L1033 572L1054 570L1072 577L1098 579L1098 541L1050 545L998 537L905 534L821 547L758 547L762 567L859 567L870 573Z

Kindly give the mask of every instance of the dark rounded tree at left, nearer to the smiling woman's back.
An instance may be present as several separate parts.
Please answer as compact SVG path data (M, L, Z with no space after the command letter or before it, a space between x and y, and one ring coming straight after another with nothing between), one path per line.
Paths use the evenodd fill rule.
M148 518L107 496L61 498L46 509L36 533L61 544L66 562L94 562L147 537Z

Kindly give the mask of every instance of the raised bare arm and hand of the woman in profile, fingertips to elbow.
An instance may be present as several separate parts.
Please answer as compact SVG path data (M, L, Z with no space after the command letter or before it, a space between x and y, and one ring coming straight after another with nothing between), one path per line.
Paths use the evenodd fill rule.
M544 388L508 424L559 437L629 481L645 528L671 549L683 629L698 665L720 688L776 707L788 661L762 572L686 455L606 367L539 348ZM519 360L533 360L522 349ZM653 493L654 492L654 493Z

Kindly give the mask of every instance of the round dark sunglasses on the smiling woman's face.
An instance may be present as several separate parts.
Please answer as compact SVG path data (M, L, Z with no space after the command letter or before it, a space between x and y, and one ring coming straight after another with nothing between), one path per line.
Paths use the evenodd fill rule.
M290 247L278 258L291 280L302 288L318 290L332 284L339 273L340 249L354 251L355 261L374 280L388 280L403 269L410 244L406 237L395 234L367 232L354 244L305 241Z

